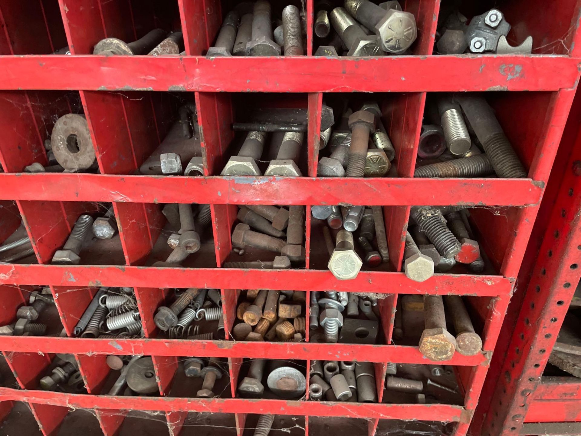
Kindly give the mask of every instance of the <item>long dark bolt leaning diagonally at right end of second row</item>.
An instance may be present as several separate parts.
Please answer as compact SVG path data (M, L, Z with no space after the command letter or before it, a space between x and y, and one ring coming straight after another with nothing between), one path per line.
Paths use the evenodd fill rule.
M483 97L465 95L458 95L456 100L462 106L496 175L501 178L526 178L525 168L486 100Z

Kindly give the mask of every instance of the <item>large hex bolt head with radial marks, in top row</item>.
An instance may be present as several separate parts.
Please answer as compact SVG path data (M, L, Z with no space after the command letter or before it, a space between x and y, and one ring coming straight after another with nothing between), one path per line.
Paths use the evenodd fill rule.
M401 54L418 37L418 28L413 13L389 9L375 26L381 49L389 53Z

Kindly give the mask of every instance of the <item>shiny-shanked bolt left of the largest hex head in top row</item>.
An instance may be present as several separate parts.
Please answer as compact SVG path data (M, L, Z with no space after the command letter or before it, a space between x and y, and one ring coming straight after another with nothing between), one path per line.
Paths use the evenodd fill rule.
M329 14L331 24L345 46L347 56L382 56L378 38L367 35L344 8L335 8Z

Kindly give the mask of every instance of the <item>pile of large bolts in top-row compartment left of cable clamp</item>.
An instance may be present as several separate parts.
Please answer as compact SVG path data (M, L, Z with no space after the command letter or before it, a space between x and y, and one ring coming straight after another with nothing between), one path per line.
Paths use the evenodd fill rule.
M397 1L345 0L344 6L315 2L315 56L403 55L418 36L414 15Z

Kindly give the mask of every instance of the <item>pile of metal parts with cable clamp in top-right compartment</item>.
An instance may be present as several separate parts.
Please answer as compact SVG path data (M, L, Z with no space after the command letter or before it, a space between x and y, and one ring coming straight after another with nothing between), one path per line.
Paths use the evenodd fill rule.
M442 16L436 33L434 53L457 55L460 53L496 53L497 55L526 55L533 49L533 37L516 46L508 44L511 25L499 9L490 9L475 15L468 23L458 9Z

